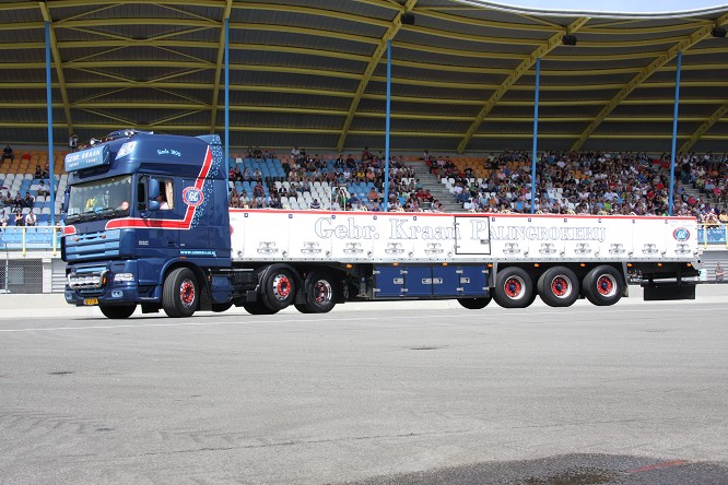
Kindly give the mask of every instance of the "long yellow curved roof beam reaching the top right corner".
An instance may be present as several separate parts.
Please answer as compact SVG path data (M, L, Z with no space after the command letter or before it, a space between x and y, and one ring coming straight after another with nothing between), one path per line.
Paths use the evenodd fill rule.
M601 111L599 111L594 121L587 126L579 138L576 139L576 141L572 144L571 151L578 151L582 145L584 145L584 143L589 139L589 137L594 134L597 128L599 128L602 121L614 110L614 108L617 108L624 99L626 99L626 97L630 96L634 90L642 85L647 80L647 78L653 75L665 64L674 59L674 57L678 56L678 52L688 50L695 44L708 37L714 25L723 25L726 22L728 22L728 13L721 15L715 24L707 24L696 29L690 34L690 36L683 38L678 44L670 47L667 51L662 52L660 57L651 61L644 70L642 70L642 72L632 78L632 80L630 80L630 82L627 82L626 85L609 100L609 103L607 103L607 105L601 109Z

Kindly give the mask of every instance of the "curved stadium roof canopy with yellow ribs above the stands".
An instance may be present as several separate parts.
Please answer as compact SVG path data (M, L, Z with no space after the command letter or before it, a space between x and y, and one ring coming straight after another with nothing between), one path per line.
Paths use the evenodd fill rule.
M679 52L678 149L728 146L728 38L714 37L728 5L480 0L3 0L0 138L47 143L46 22L57 143L119 128L222 134L226 20L232 147L383 147L389 39L392 150L530 149L541 58L540 150L669 151Z

